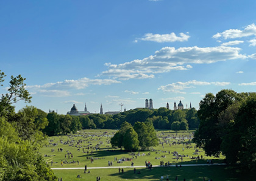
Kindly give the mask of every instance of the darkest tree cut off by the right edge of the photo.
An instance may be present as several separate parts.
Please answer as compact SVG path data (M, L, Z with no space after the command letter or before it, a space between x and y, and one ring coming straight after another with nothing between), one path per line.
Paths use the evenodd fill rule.
M230 140L236 140L236 148L226 148L226 151L235 152L238 160L243 166L249 169L256 170L256 94L250 94L246 101L241 104L241 107L236 114L235 123L230 129ZM226 141L226 139L224 141Z

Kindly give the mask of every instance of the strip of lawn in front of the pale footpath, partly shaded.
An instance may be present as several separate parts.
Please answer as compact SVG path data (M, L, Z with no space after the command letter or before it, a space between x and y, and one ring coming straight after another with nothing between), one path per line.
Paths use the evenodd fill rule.
M84 174L82 169L78 170L55 170L57 177L62 177L65 181L73 180L96 180L100 176L102 181L108 180L160 180L161 176L168 174L169 180L175 180L176 176L179 180L186 179L187 181L202 181L212 179L214 181L240 181L240 180L255 180L255 175L246 172L240 172L237 168L229 168L227 166L183 166L176 167L157 167L151 170L146 168L137 168L141 174L134 174L132 168L125 168L124 173L119 173L117 168L109 169L91 169L90 174ZM82 178L77 179L77 175ZM246 179L245 179L246 178Z

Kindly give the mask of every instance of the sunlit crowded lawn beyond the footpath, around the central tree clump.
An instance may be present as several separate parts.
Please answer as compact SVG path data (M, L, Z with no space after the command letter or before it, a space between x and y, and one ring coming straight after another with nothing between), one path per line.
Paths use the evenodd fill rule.
M107 134L104 134L104 132L108 132ZM132 155L132 152L126 152L126 151L120 151L120 149L112 149L110 144L110 138L115 134L116 130L105 130L105 129L87 129L84 131L79 131L77 134L71 134L71 135L65 135L65 136L55 136L55 137L49 137L49 140L52 140L52 142L49 143L57 143L57 146L48 145L47 147L44 146L41 149L42 155L48 155L47 157L44 157L46 162L51 165L51 161L53 161L52 168L74 168L74 167L83 167L87 165L88 167L95 167L95 166L108 166L108 161L113 162L113 166L130 166L131 161L124 161L123 163L116 163L115 157L119 160L122 158L129 158L132 159L132 162L134 163L134 166L138 165L145 165L145 161L149 161L152 163L152 165L160 165L160 161L163 162L170 162L172 164L191 164L191 163L206 163L207 159L214 160L213 163L216 162L222 162L223 157L220 158L214 158L214 157L206 157L204 155L204 151L202 149L199 149L199 156L203 155L203 159L190 159L194 155L195 144L191 142L188 146L191 148L187 149L185 148L185 145L172 145L171 146L166 143L162 145L158 145L154 147L154 151L140 151L140 152L134 152L134 154L139 154L140 156ZM160 138L160 141L163 140L163 137L168 137L172 135L176 135L176 137L179 137L179 135L182 137L182 135L191 135L193 131L189 132L174 132L174 131L163 131L159 130L157 131L157 135ZM62 143L60 142L62 140ZM63 143L67 142L69 140L69 143L72 142L73 145L63 145ZM79 143L77 145L78 141L81 141L82 143ZM177 142L179 140L176 139L169 139L170 143ZM189 139L185 139L183 142L188 142ZM89 143L90 142L90 143ZM92 149L87 149L87 146L91 144L90 146L96 146L96 144L102 143L100 148L101 150L96 151L93 150L93 153L91 154ZM80 148L80 151L78 150ZM62 148L63 151L58 151L58 149ZM82 149L84 148L85 153L83 153ZM52 152L51 149L54 149ZM183 151L184 149L184 151ZM198 148L197 148L198 149ZM87 154L87 151L90 153ZM175 157L172 155L171 152L177 151L179 154L188 155L188 157L183 157L183 160L176 160ZM71 152L73 155L73 158L70 156L68 159L68 152ZM170 152L170 154L169 154ZM66 154L66 158L65 158ZM150 155L149 155L150 154ZM94 158L94 162L90 162L90 157ZM157 159L156 159L157 158ZM63 166L61 166L61 162L76 162L76 163L65 163ZM79 161L79 164L77 163L77 160Z

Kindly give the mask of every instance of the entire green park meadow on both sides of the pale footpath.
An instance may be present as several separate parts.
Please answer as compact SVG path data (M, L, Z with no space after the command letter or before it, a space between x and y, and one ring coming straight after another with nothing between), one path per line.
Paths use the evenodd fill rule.
M83 169L54 170L56 176L62 177L65 181L96 180L97 176L101 176L101 180L160 180L162 175L166 178L166 174L169 175L169 180L175 180L176 176L179 177L179 180L184 178L186 180L203 180L203 177L205 180L210 178L213 180L243 180L242 178L246 174L227 166L158 167L152 168L152 170L146 169L145 166L145 168L137 168L141 174L134 174L133 168L125 168L124 173L119 173L118 168L111 167L131 166L132 162L134 166L141 166L145 165L145 161L151 162L153 166L160 165L160 161L169 162L172 165L186 165L207 163L207 159L211 159L213 163L222 163L224 157L206 157L202 149L195 148L194 143L191 142L193 131L176 133L159 130L157 135L160 138L160 144L151 148L151 151L140 152L112 149L110 138L115 132L115 130L96 129L79 131L77 134L67 136L49 137L47 145L41 149L41 154L47 155L44 158L50 166L52 164L51 168L84 168L87 165L88 171L91 167L109 167L108 169L90 169L90 174L84 174ZM95 149L96 145L99 145L100 150ZM60 151L61 149L62 151ZM183 155L182 160L176 159L176 156L173 155L174 151ZM197 156L201 158L201 155L202 159L191 159ZM93 163L91 163L90 157L93 157ZM115 158L130 160L117 163ZM113 162L113 166L108 166L108 161ZM63 162L63 166L61 162ZM77 179L77 175L80 175L82 179ZM246 177L248 178L248 174Z

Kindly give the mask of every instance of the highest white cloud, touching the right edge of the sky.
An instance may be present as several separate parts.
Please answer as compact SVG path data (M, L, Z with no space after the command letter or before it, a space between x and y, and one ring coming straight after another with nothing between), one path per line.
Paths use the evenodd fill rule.
M223 37L224 39L228 39L228 38L241 38L245 36L256 36L255 24L250 24L247 27L245 27L243 30L230 29L222 33L216 33L216 35L213 35L213 38Z

